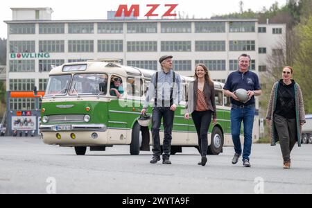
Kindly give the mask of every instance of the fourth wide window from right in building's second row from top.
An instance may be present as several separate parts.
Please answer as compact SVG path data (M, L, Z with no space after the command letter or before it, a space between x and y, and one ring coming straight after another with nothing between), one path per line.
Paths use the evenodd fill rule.
M157 41L128 41L127 42L128 52L156 52Z

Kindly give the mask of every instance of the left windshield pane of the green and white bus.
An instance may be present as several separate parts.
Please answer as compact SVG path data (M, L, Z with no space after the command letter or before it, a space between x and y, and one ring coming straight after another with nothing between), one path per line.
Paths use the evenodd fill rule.
M50 76L45 96L61 96L68 92L71 75Z

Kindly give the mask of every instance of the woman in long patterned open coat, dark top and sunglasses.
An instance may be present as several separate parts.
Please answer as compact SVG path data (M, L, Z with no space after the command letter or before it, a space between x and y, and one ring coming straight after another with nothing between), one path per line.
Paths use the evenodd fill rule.
M291 168L291 150L301 146L301 126L306 123L300 86L292 80L293 68L284 67L283 79L272 88L266 121L270 126L271 145L279 141L284 168Z

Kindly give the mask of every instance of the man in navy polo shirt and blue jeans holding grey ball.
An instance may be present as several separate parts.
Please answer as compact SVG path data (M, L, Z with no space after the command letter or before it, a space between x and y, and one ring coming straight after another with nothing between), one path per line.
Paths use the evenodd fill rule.
M235 154L232 164L236 164L241 156L241 122L244 125L243 166L250 167L252 147L252 128L254 124L255 99L261 95L259 78L256 73L249 71L251 58L247 54L239 56L239 70L229 74L225 83L224 94L231 97L231 132ZM236 89L245 89L248 101L240 101L235 95ZM240 90L241 91L241 90Z

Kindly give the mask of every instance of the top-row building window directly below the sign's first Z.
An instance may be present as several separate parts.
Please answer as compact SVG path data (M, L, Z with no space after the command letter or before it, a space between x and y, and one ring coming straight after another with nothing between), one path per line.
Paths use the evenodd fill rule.
M127 33L157 33L157 23L129 22L127 23Z

